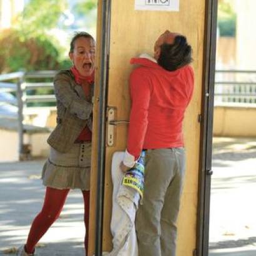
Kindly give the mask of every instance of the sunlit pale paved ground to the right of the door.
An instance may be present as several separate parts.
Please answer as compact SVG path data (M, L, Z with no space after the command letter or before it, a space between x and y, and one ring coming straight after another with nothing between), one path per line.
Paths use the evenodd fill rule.
M256 138L214 138L210 256L256 255Z

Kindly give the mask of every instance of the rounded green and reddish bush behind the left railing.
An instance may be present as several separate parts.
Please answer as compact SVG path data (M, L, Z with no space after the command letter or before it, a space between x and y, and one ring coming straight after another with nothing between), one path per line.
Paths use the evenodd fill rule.
M16 29L9 29L0 38L0 73L61 69L61 52L48 36L24 37Z

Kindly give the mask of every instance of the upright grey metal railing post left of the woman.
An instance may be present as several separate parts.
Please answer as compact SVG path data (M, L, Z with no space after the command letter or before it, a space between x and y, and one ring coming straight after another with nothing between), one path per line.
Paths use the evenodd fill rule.
M24 74L20 77L19 81L17 82L17 91L16 91L16 97L17 97L17 107L18 107L18 116L17 116L17 131L19 135L19 160L22 160L22 154L23 154L23 144L24 144L24 138L23 138L23 95L24 95Z

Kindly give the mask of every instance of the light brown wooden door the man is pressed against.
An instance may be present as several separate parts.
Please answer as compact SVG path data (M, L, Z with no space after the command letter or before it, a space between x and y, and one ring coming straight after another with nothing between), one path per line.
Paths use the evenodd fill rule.
M152 54L154 42L157 37L166 29L173 32L180 32L187 36L187 40L193 49L192 66L195 71L195 91L192 102L185 114L184 134L185 148L187 152L187 170L185 177L184 193L178 220L178 240L177 255L192 255L196 248L197 238L197 214L198 214L198 193L199 193L199 159L200 159L200 115L202 114L202 104L204 97L204 59L205 59L205 36L207 27L205 13L207 12L204 0L180 0L179 11L136 11L134 0L112 0L109 9L111 19L109 40L104 41L108 44L106 51L108 58L107 64L107 97L106 107L116 107L116 120L129 120L130 97L129 97L129 74L132 70L129 61L131 57L138 56L140 53L147 52ZM92 157L92 177L91 177L91 212L90 212L90 246L89 255L94 252L95 225L96 225L96 194L97 194L97 165L99 159L99 115L100 110L100 64L102 57L102 47L100 42L104 35L102 26L102 6L106 1L100 0L98 5L98 31L97 31L97 77L96 94L94 107L94 137ZM106 6L105 6L106 7ZM108 32L108 31L106 31ZM106 37L105 37L106 39ZM102 75L102 74L101 74ZM106 110L104 112L106 115ZM107 121L107 117L106 117ZM103 214L103 250L110 251L111 233L111 207L112 207L112 182L111 182L111 157L117 150L126 149L127 125L116 126L116 137L114 146L105 146L105 169L104 169L104 214ZM99 210L99 209L98 209ZM132 255L131 255L132 256Z

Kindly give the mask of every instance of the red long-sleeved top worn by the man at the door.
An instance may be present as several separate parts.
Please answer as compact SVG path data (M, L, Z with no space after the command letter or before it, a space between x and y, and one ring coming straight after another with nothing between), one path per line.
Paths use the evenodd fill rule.
M189 65L167 71L146 58L130 74L130 110L127 151L137 159L142 149L183 147L182 121L192 97L194 72Z

